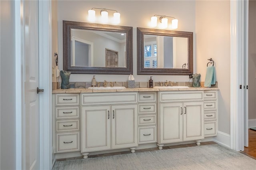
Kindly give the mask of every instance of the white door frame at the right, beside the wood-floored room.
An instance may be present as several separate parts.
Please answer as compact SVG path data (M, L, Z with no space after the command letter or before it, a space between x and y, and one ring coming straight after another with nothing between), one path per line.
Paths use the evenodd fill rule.
M243 70L244 61L248 60L247 3L248 0L230 1L230 148L236 151L244 150L244 127L248 127L248 101L244 105L244 95L248 91L244 93L239 89L239 85L246 86L244 76L248 79L248 74ZM248 95L245 98L248 98Z

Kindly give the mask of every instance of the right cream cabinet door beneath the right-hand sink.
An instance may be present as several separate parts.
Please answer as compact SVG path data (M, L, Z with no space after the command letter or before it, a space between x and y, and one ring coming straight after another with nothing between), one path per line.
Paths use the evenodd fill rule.
M204 102L183 103L183 140L204 138Z

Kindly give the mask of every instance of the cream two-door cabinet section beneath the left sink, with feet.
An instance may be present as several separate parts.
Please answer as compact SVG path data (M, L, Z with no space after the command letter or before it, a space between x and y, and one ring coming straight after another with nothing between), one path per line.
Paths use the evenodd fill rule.
M81 152L138 146L138 100L132 93L81 94ZM120 103L117 105L117 103Z

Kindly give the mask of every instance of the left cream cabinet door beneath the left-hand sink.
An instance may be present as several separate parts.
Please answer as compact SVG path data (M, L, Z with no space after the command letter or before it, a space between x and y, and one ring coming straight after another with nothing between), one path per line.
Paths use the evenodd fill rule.
M110 149L110 106L82 107L81 152Z

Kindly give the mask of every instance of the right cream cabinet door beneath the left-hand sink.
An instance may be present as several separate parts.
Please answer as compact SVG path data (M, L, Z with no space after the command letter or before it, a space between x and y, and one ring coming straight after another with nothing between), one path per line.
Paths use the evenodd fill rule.
M138 146L138 105L112 106L112 149Z

